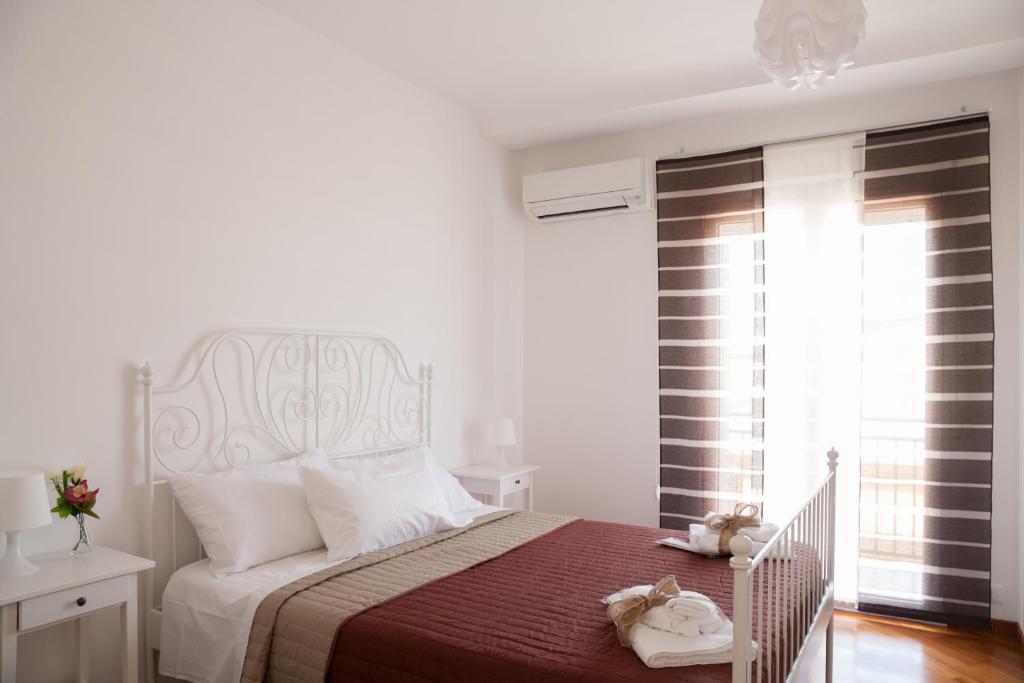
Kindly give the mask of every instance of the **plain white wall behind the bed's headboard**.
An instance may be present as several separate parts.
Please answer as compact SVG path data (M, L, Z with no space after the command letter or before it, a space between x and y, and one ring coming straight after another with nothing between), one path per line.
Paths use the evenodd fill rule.
M482 419L520 416L508 155L271 10L4 2L0 150L0 469L88 463L98 543L141 550L136 364L169 381L217 330L391 336L436 366L450 465L479 457ZM70 547L73 525L29 550ZM117 680L113 625L94 680ZM25 638L19 680L70 680L69 633Z

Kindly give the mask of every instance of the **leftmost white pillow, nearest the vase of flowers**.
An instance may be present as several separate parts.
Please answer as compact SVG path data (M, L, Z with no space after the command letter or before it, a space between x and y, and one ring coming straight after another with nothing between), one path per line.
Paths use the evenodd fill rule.
M216 577L324 547L297 459L173 474L171 489L196 527Z

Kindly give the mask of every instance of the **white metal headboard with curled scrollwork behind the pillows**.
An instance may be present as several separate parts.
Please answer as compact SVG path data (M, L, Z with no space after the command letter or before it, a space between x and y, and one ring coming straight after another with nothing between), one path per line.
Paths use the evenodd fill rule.
M158 584L162 591L184 563L178 557L183 515L167 473L243 467L316 447L351 457L428 445L432 375L432 366L421 364L414 377L394 343L380 335L309 330L226 332L202 347L181 384L154 386L153 369L142 366L145 545L157 561L148 606L157 605ZM165 515L157 514L158 496ZM202 548L187 521L181 526L194 561ZM162 557L168 549L169 562Z

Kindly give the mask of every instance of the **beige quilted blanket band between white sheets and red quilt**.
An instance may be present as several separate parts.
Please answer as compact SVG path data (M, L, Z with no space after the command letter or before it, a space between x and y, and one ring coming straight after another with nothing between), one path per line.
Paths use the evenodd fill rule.
M502 510L472 524L356 557L266 596L253 616L244 683L323 683L346 620L498 557L574 517Z

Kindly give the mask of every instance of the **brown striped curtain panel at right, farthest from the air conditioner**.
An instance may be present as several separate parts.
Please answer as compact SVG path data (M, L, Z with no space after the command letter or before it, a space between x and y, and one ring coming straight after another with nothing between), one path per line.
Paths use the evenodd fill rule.
M918 415L862 427L858 601L863 610L984 626L992 509L988 118L868 133L864 167L865 241L907 226L921 236L924 404Z

